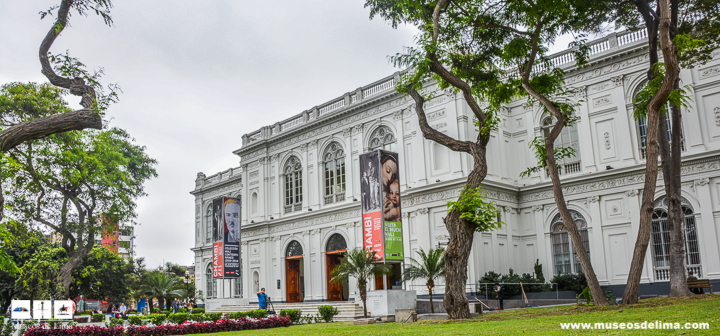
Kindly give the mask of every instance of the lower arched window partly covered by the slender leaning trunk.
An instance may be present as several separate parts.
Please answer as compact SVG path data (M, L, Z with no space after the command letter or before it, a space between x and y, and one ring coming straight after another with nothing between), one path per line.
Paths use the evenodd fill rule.
M572 216L575 225L578 227L578 231L580 231L580 238L582 239L583 246L589 258L590 243L588 240L587 221L585 217L575 210L570 210L570 216ZM578 273L582 271L580 260L578 260L577 253L575 253L575 249L572 247L572 240L565 228L565 224L563 224L560 214L557 214L550 224L550 239L552 240L555 274ZM570 258L571 254L572 259Z

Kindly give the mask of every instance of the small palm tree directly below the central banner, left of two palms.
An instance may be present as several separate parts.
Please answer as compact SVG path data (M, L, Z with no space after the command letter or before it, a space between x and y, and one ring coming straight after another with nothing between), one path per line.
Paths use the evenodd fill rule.
M363 301L363 315L367 317L367 282L368 279L378 275L390 274L392 268L390 265L378 263L375 251L366 251L363 249L354 249L349 251L340 260L340 265L333 269L330 279L333 283L340 283L349 277L358 280L358 289L360 289L360 299Z

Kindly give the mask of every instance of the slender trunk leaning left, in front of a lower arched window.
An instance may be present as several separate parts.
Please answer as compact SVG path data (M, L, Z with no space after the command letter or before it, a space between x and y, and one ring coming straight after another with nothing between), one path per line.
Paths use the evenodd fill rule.
M561 122L562 120L558 120L558 123ZM559 132L553 133L559 134ZM605 292L603 292L602 288L600 287L600 283L598 282L597 276L595 275L595 269L592 267L592 264L590 263L590 257L588 257L587 251L585 250L585 245L583 245L582 243L580 231L578 230L577 225L575 225L575 221L573 221L572 215L570 215L570 210L568 209L567 203L565 202L565 195L563 195L562 184L560 184L560 174L558 173L557 164L555 163L555 137L551 136L545 139L545 149L547 151L546 163L548 170L550 171L550 178L552 179L555 204L557 205L558 211L560 212L560 217L563 220L563 225L565 225L565 228L570 234L570 239L572 239L573 247L575 248L575 254L577 255L577 258L580 259L580 266L582 267L583 273L585 273L585 278L587 279L588 287L590 288L590 294L592 295L593 301L598 306L607 306L609 304L607 302L607 299L605 298Z

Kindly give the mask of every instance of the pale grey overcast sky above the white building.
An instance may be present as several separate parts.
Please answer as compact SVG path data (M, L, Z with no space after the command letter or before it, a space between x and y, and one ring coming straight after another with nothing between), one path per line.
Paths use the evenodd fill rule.
M59 0L0 0L0 84L45 82L38 48ZM114 1L114 26L74 14L53 53L104 67L120 102L110 126L158 160L138 200L137 256L149 267L193 263L194 188L239 165L241 136L397 71L388 55L412 27L369 19L364 0ZM562 49L562 48L561 48ZM77 97L68 98L77 105Z

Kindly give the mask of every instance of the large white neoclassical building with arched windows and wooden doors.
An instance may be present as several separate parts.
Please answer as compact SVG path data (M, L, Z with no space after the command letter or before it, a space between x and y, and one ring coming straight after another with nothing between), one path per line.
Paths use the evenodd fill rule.
M580 89L579 121L558 142L577 156L561 162L561 178L573 217L581 227L601 285L625 284L637 236L645 169L644 120L633 117L633 97L648 68L643 32L619 33L592 44L589 66L578 69L569 51L552 58ZM456 199L472 159L422 137L413 102L393 90L398 74L242 136L233 152L240 166L195 180L196 286L206 298L254 297L265 287L280 301L354 299L356 285L332 285L329 270L343 251L362 246L358 156L383 148L399 153L404 253L416 257L445 246L448 200ZM720 52L681 73L694 87L683 114L682 196L687 223L688 267L720 280ZM432 127L474 139L473 115L461 95L436 90L426 103ZM544 276L577 272L572 242L559 219L545 172L521 178L535 164L528 143L553 121L538 106L516 101L501 113L488 145L487 196L502 209L505 225L475 233L468 283L487 271ZM668 130L670 132L671 130ZM675 131L675 130L672 130ZM666 202L658 178L651 244L642 283L668 281ZM242 200L242 279L213 280L211 202ZM714 282L714 281L713 281ZM392 284L391 285L395 285ZM393 288L426 289L420 282ZM375 286L372 284L371 287ZM442 292L442 288L438 288ZM250 295L247 295L247 294Z

